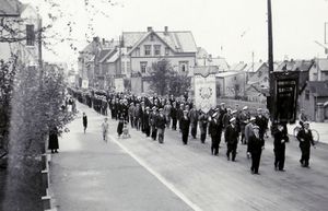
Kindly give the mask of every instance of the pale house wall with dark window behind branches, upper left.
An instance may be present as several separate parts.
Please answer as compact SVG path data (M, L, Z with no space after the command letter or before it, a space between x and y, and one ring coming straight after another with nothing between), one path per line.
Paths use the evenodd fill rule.
M39 14L31 4L23 4L17 0L0 0L0 22L3 26L0 35L0 59L11 59L13 54L17 56L20 63L37 67L37 36L42 27ZM5 26L10 30L5 30Z

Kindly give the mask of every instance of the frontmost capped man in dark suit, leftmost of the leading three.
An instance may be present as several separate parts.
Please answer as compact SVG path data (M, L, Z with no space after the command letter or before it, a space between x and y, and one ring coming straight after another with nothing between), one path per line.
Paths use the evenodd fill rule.
M254 126L253 130L254 130L254 134L250 136L249 140L248 140L248 150L251 155L250 171L251 171L251 174L259 174L258 168L259 168L259 163L260 163L265 141L259 136L259 127L258 126Z

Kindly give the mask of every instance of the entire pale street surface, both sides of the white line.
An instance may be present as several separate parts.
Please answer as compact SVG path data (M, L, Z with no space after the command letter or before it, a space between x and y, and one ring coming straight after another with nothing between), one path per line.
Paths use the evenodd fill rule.
M164 144L130 129L118 139L117 121L109 120L110 140L101 139L102 116L86 112L83 134L78 117L60 140L52 157L51 181L58 210L270 210L323 211L328 208L328 146L312 149L311 168L300 166L301 152L291 138L286 172L273 168L272 139L266 140L260 175L251 175L246 146L238 145L237 162L227 161L225 144L210 155L210 139L201 144L167 129ZM82 209L83 208L83 209Z

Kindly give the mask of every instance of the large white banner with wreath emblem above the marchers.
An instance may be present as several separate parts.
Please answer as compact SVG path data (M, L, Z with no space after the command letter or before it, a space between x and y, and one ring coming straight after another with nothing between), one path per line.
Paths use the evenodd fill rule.
M215 74L195 74L195 105L197 109L208 113L216 106Z

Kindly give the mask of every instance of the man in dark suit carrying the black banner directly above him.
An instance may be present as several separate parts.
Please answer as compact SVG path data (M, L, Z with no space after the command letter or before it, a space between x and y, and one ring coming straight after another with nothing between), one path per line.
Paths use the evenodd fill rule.
M274 132L273 152L274 152L274 169L284 172L285 142L289 142L286 126L278 125L278 130Z

